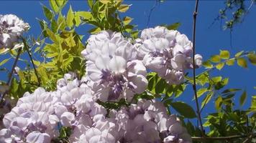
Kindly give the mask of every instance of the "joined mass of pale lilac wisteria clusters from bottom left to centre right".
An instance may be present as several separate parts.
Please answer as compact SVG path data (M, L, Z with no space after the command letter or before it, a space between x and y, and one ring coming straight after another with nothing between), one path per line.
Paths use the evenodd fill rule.
M191 51L185 35L159 26L143 30L135 43L113 31L91 35L81 53L86 75L78 80L70 72L58 80L56 91L40 87L25 93L4 116L0 142L48 143L63 127L71 131L69 142L77 143L191 142L162 102L132 100L147 89L147 71L157 72L169 84L180 83L185 70L193 68ZM196 55L196 66L201 59ZM109 112L101 104L120 99L129 104L119 110Z

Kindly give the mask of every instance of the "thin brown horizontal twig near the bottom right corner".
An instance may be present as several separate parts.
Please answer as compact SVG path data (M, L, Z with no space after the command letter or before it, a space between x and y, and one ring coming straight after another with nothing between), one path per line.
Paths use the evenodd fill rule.
M201 140L231 140L231 139L239 139L239 138L245 138L248 137L247 135L233 135L233 136L227 136L227 137L192 137L193 141L201 141ZM251 134L250 138L256 137L255 134ZM244 140L245 141L245 140Z

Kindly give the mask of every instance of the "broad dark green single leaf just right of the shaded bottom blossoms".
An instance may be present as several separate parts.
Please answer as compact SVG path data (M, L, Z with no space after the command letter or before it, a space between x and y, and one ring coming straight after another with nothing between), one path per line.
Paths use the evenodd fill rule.
M172 102L170 106L173 107L177 112L179 112L183 117L195 118L196 113L193 108L184 102Z

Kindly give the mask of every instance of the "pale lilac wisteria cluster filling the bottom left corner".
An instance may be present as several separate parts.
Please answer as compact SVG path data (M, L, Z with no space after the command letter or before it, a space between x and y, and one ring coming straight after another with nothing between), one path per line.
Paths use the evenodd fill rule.
M58 117L54 114L55 92L45 92L41 87L34 93L26 92L17 106L5 114L6 129L0 131L0 142L50 142L58 137L55 127Z

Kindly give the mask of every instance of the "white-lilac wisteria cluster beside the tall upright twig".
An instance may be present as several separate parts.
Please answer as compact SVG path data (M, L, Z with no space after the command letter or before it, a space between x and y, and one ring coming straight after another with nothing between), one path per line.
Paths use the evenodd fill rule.
M157 72L169 84L180 84L186 69L193 68L193 44L185 34L157 26L144 29L141 38L135 42L137 55L145 66ZM195 68L198 68L201 66L202 56L197 54L195 60Z

